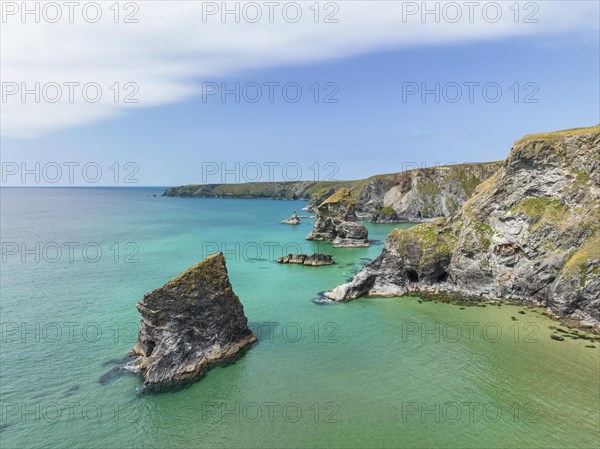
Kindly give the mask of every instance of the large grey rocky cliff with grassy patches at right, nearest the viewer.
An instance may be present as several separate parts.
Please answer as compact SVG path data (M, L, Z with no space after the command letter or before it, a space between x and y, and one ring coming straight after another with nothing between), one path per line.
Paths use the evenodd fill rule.
M510 299L597 326L599 205L600 126L526 136L460 214L394 230L376 260L326 296Z

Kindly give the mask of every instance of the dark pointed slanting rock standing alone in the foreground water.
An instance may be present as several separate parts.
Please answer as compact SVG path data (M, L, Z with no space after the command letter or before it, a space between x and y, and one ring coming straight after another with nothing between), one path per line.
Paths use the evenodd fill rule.
M146 294L137 309L142 323L133 353L149 388L197 379L256 340L220 252Z

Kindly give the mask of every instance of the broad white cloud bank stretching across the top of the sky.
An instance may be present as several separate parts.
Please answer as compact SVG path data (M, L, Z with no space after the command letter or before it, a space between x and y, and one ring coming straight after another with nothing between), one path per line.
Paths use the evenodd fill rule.
M522 2L517 23L515 9L510 9L514 2L479 2L472 10L472 23L468 2L428 2L430 10L438 4L439 23L433 14L424 21L420 11L409 15L415 7L422 9L420 1L319 2L318 23L314 22L314 9L310 9L312 1L297 3L302 11L297 23L290 23L293 5L288 6L288 20L283 16L284 5L291 3L285 1L274 6L273 23L269 22L268 4L260 1L227 3L229 8L239 4L240 12L245 7L248 18L254 16L258 5L263 16L257 23L244 20L243 15L236 23L231 14L225 23L219 14L205 15L203 21L203 8L205 12L211 7L222 8L220 1L122 2L119 23L114 23L114 10L109 9L113 2L97 3L102 11L97 23L84 19L83 7L90 2L75 7L73 23L69 23L65 2L28 2L30 9L39 5L40 23L35 22L33 14L25 16L23 23L21 10L11 14L15 6L22 8L22 2L0 3L3 94L15 87L11 83L17 83L19 90L22 83L28 88L40 83L40 90L52 82L62 86L57 103L44 98L36 103L33 95L28 95L25 102L19 94L2 98L1 133L11 137L37 136L115 117L129 109L181 101L201 92L198 79L214 80L247 69L318 62L388 48L586 32L598 27L598 5L587 1ZM54 18L58 10L55 5L62 18L49 23L45 19ZM502 13L495 23L494 5L501 5ZM134 14L138 23L122 23L135 8L139 8ZM323 23L325 16L336 9L333 18L338 22ZM462 16L451 23L457 11ZM86 17L93 18L93 7L88 7L87 13ZM530 19L538 23L524 23L528 14L533 14ZM74 88L74 101L70 103L65 82L98 83L102 97L90 103L79 86ZM124 103L121 96L115 103L110 90L115 82L120 83L121 94L131 91L123 89L127 82L139 86L135 94L139 102ZM93 89L88 93L93 94ZM54 96L55 89L47 87L46 94Z

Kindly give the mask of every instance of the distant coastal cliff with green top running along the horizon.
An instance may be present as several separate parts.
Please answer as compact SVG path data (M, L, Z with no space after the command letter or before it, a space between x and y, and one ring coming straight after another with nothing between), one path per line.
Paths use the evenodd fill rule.
M360 216L375 222L448 217L460 210L475 187L494 174L500 162L419 168L358 181L256 182L171 187L165 196L308 200L308 210L340 189L350 190Z

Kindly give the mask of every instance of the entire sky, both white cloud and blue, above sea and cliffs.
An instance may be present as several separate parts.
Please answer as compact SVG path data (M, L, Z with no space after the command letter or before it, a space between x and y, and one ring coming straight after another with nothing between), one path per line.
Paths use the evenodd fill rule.
M595 1L90 3L0 2L2 186L360 179L600 123Z

